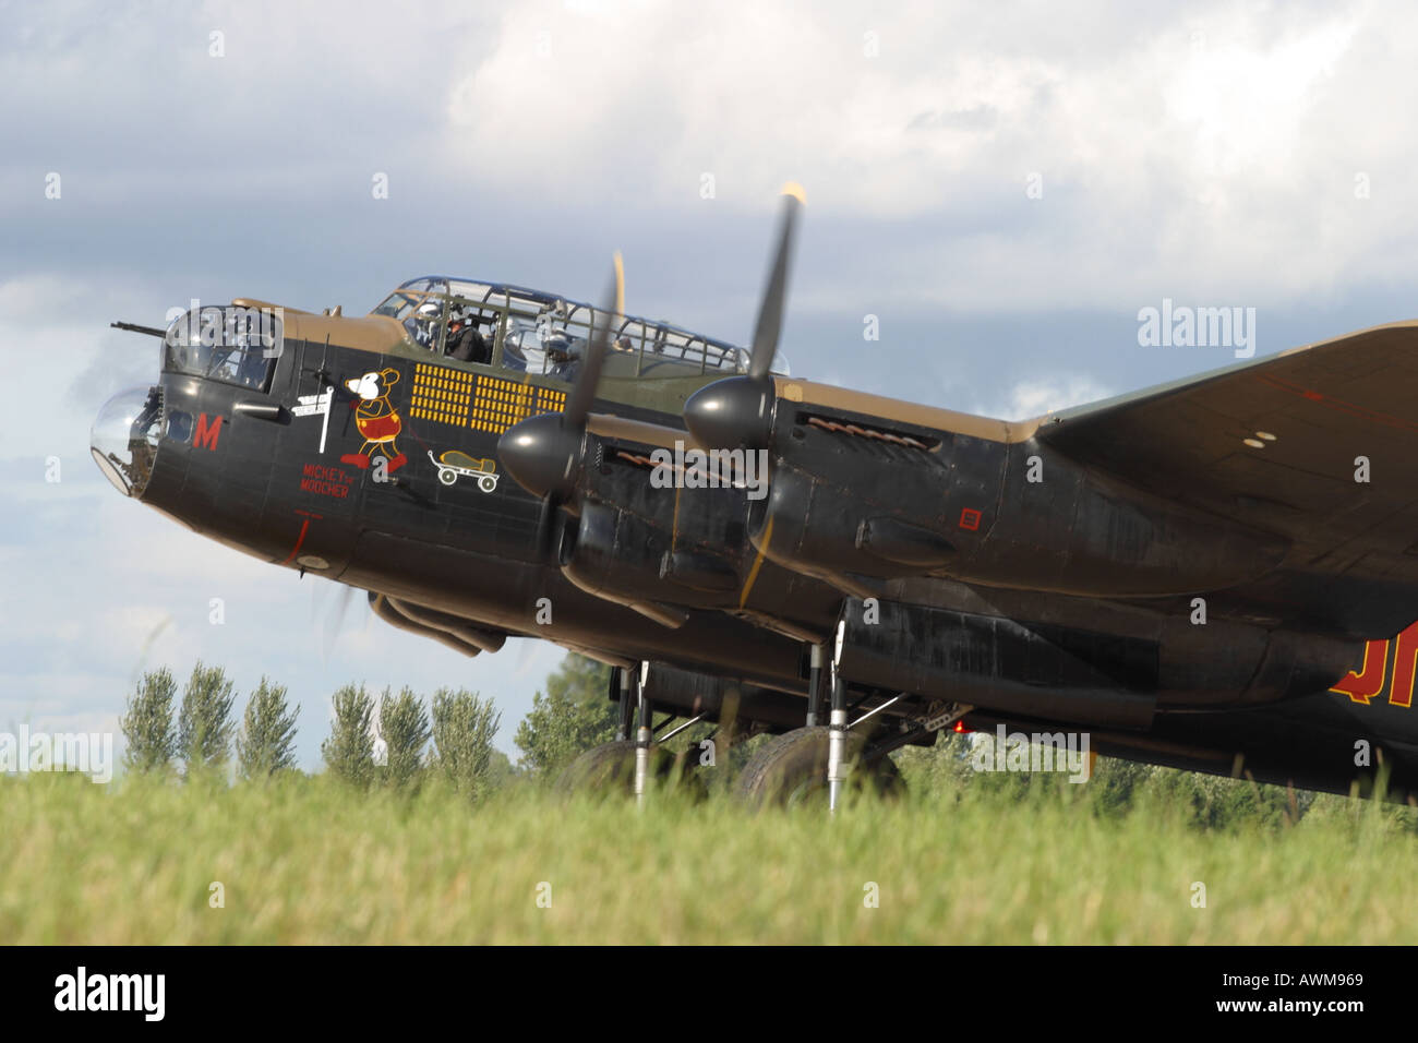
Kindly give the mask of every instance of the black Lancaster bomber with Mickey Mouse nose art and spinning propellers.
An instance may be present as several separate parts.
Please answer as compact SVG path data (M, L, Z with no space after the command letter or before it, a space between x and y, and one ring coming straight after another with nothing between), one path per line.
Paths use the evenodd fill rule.
M618 261L596 307L427 277L363 316L119 324L162 372L94 457L390 626L613 664L621 739L587 758L617 785L659 763L659 711L776 734L759 800L889 786L891 751L1001 724L1418 790L1418 324L967 416L776 372L800 207L747 348L625 315Z

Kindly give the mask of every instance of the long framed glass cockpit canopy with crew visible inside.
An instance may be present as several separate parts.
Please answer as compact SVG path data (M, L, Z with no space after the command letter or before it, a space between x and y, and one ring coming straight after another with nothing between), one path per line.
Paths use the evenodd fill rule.
M438 356L539 375L557 375L580 358L596 319L596 308L583 301L445 275L404 282L370 314L398 319L414 343ZM637 376L661 368L742 373L749 365L743 348L635 316L617 319L611 345L637 356ZM781 356L774 369L787 373Z

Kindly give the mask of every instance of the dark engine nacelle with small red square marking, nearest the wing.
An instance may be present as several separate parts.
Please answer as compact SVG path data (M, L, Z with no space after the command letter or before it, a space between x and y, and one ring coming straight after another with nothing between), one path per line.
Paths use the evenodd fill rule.
M1176 596L1256 579L1288 549L1035 440L824 426L786 406L769 500L750 512L749 535L786 568L845 590L861 589L854 575L933 575L1090 597Z

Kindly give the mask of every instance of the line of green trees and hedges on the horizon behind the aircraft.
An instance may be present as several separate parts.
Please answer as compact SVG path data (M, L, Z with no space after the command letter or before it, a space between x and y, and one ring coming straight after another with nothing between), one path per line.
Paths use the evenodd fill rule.
M325 769L363 789L415 790L435 776L472 800L513 778L550 782L577 754L615 736L618 712L607 698L608 683L610 667L574 653L562 660L518 724L515 744L522 751L518 768L492 745L501 714L491 700L467 690L440 688L425 707L407 687L397 694L386 688L376 697L363 684L346 684L335 692L330 734L320 744ZM125 768L190 778L224 772L234 754L235 773L242 779L298 772L298 707L289 705L285 685L262 677L240 722L233 715L235 701L234 684L221 667L197 663L180 702L169 670L143 674L122 718L128 739ZM695 741L692 734L686 739L688 745ZM726 776L759 741L749 739L730 749ZM1098 759L1095 775L1083 788L1069 785L1056 772L977 773L971 751L968 736L950 732L930 748L908 746L893 758L917 795L946 800L960 799L968 790L1007 790L1021 800L1062 795L1083 798L1105 817L1153 800L1180 805L1197 824L1231 827L1246 820L1293 823L1312 806L1347 806L1344 798L1112 758Z

